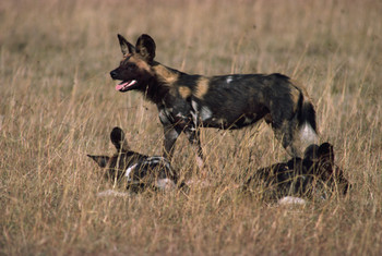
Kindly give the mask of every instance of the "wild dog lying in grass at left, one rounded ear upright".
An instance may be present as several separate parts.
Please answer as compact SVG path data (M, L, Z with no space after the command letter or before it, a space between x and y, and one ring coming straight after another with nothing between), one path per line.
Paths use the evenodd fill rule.
M133 191L144 187L175 187L177 175L166 158L147 157L131 151L120 127L112 129L110 139L117 148L117 153L112 157L87 155L99 167L106 169L105 176L107 179L120 181L126 178L127 188Z

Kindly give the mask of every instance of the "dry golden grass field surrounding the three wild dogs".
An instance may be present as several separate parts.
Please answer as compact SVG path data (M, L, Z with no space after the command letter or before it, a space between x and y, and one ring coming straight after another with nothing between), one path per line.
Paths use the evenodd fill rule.
M381 255L381 13L377 0L0 1L0 255ZM117 33L150 34L188 73L299 80L349 194L285 207L240 193L246 170L288 158L261 123L202 131L210 187L97 197L112 184L86 154L112 154L114 126L162 154L156 107L109 76ZM194 163L181 135L172 164Z

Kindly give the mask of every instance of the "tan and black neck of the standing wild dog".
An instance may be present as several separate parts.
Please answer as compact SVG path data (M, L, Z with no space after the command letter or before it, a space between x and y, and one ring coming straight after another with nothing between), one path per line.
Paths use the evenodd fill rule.
M182 74L180 71L167 68L158 62L152 65L153 77L147 84L146 90L143 92L147 99L154 103L160 103L171 86Z

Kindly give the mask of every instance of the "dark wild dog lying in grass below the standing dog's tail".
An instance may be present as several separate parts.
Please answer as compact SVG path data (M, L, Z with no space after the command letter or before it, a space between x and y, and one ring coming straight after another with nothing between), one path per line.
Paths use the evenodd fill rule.
M266 198L279 199L294 196L325 199L333 193L346 194L349 183L334 163L333 146L312 144L303 159L293 158L271 167L259 169L247 182L244 190L264 188Z

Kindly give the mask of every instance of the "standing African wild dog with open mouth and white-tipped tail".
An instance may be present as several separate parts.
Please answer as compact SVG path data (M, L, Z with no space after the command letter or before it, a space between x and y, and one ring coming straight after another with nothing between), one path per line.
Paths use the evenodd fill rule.
M122 81L116 89L139 90L156 103L164 126L164 156L169 160L175 142L184 132L196 148L198 164L203 167L200 126L235 130L264 119L291 156L301 151L298 139L306 146L315 142L313 105L306 90L289 77L190 75L154 61L156 46L148 35L142 35L135 47L121 35L118 39L123 59L110 72L112 80Z

